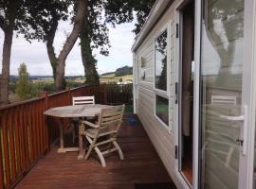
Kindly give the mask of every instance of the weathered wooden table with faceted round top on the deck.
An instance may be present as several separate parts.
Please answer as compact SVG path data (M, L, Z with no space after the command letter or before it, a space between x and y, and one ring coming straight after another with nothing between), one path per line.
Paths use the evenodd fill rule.
M64 119L62 118L78 118L78 117L95 117L100 112L101 109L110 108L108 105L72 105L64 107L51 108L44 112L47 116L53 116L60 118L60 148L58 153L65 153L67 151L79 151L79 159L83 158L83 147L82 147L82 137L79 137L79 147L64 147Z

